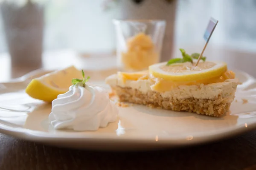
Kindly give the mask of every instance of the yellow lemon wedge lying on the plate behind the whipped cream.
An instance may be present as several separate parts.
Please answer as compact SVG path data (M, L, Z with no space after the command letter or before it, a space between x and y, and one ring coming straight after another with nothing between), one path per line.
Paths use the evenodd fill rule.
M81 71L71 66L32 79L25 91L32 98L52 102L59 94L69 91L73 78L82 78L82 76Z

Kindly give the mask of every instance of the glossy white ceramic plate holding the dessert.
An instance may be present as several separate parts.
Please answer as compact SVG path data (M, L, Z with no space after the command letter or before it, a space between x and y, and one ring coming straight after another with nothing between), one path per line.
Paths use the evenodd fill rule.
M85 74L94 77L91 82L104 85L104 78L113 72ZM45 73L34 71L12 82L0 83L0 133L58 147L144 150L199 144L256 128L256 80L237 72L243 85L238 88L230 113L221 118L132 105L119 108L119 120L98 131L54 130L48 122L51 104L32 99L24 92L32 78ZM248 102L243 104L242 99Z

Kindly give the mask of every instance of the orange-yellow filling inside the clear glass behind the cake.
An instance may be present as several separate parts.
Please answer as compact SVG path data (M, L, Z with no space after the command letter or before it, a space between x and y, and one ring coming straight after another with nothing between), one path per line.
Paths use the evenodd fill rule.
M122 52L121 60L125 70L145 70L158 62L158 54L151 37L139 33L126 42L127 51Z

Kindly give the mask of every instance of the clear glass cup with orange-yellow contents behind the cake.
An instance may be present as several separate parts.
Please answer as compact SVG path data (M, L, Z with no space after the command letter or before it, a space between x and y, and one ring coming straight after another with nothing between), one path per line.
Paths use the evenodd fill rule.
M160 61L164 20L113 20L119 71L143 71Z

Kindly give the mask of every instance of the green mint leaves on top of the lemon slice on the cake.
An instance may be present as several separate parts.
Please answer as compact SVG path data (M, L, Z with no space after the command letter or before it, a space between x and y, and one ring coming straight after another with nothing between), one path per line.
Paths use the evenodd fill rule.
M171 65L174 63L184 63L184 62L191 62L193 63L193 59L198 59L200 54L199 53L193 53L192 55L189 55L186 53L186 51L183 48L180 48L180 52L182 55L182 58L174 58L170 59L166 65ZM206 57L201 57L203 61L206 60Z

